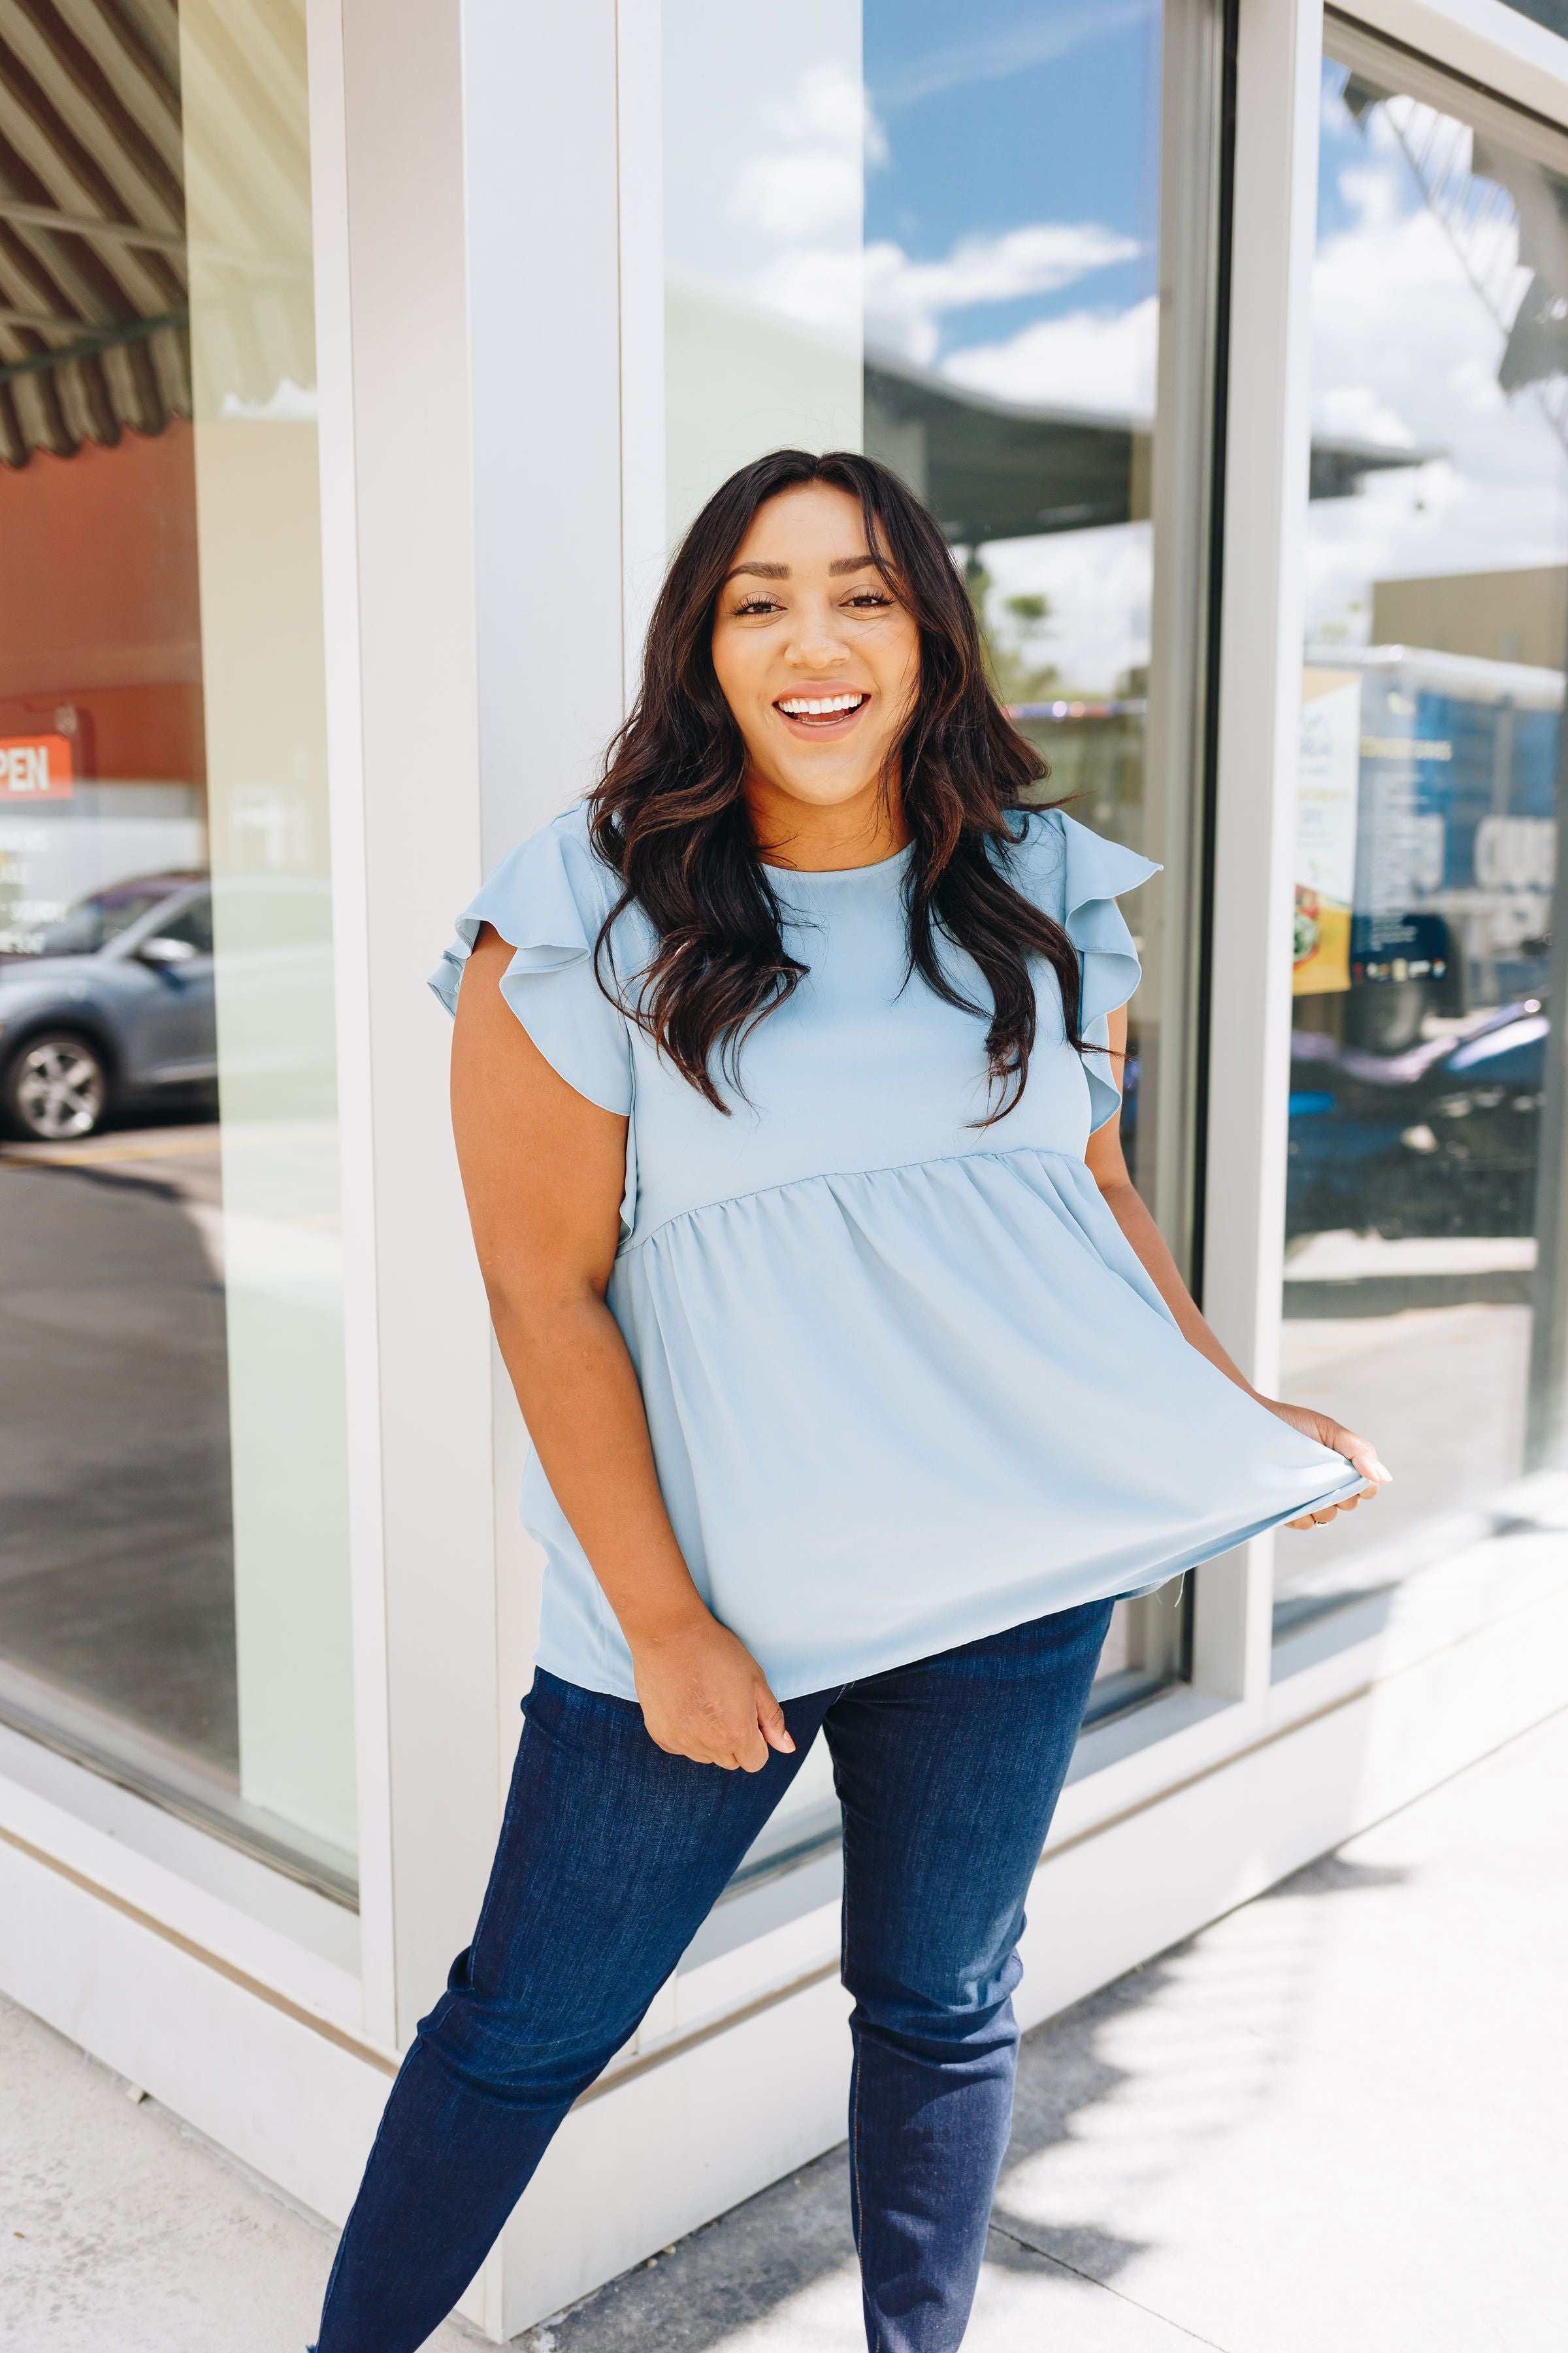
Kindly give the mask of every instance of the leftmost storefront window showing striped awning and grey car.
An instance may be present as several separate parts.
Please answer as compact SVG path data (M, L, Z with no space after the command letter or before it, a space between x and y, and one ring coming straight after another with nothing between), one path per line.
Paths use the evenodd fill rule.
M0 1715L348 1899L303 0L0 54Z

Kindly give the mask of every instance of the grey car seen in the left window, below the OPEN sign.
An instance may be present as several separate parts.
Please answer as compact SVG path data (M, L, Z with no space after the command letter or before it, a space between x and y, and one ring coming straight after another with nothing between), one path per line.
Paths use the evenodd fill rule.
M216 1104L207 875L92 892L0 955L0 1120L66 1144L110 1111Z

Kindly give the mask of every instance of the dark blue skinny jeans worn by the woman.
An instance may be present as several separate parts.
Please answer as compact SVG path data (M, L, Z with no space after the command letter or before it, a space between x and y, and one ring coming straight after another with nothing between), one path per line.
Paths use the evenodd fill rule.
M849 2167L872 2353L952 2353L1013 2111L1023 1899L1110 1602L785 1704L757 1774L541 1673L473 1946L418 2026L339 2245L320 2353L414 2353L571 2101L635 2033L820 1732L844 1802Z

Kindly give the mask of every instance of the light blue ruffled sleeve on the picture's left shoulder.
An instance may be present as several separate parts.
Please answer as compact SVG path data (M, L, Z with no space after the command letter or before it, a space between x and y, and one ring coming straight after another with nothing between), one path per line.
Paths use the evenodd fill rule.
M595 859L583 814L557 816L501 859L463 908L456 939L430 988L456 1012L463 967L489 922L512 948L501 995L569 1087L602 1111L632 1108L632 1045L625 1014L599 988L592 965L599 925L614 906L614 878Z

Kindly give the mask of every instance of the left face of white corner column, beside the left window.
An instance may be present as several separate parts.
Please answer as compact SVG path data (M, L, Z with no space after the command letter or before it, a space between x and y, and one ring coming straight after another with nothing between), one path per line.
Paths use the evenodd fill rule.
M334 431L327 485L329 708L364 894L346 1092L346 1212L374 1278L371 1297L355 1292L355 1501L386 1577L386 1748L371 1715L364 1777L386 1777L388 1857L364 1939L400 2042L473 1927L498 1779L489 1337L451 1153L447 1021L423 986L480 880L458 33L456 0L341 7L334 358L353 440Z

